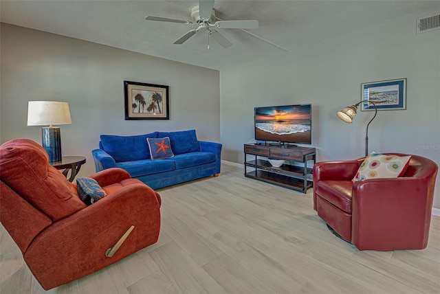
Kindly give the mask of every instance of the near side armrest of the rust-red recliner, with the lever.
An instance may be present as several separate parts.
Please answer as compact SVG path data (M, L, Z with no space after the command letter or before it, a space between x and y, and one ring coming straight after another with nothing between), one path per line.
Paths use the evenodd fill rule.
M131 234L115 255L107 258L107 249L131 225ZM154 244L159 230L157 193L147 185L133 184L47 227L24 257L43 288L50 289Z

